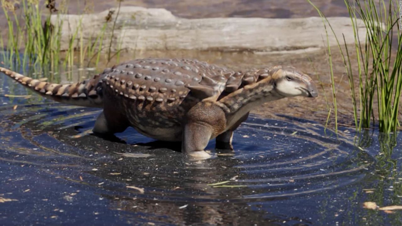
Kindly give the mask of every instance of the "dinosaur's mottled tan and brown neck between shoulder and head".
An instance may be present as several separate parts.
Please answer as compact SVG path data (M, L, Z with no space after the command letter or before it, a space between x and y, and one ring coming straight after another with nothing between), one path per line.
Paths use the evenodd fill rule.
M258 76L257 76L258 78ZM282 99L273 88L271 77L245 85L219 100L219 106L226 113L229 124L235 123L252 109L269 101Z

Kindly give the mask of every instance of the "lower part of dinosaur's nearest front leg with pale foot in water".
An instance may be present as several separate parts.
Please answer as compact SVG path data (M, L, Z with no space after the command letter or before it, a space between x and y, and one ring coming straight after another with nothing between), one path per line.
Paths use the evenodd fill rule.
M210 125L187 123L183 129L182 152L195 157L209 157L205 147L211 139Z

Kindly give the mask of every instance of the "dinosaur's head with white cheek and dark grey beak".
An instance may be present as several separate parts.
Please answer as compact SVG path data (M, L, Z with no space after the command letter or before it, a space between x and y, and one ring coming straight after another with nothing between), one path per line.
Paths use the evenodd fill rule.
M275 91L284 97L318 97L314 81L290 66L275 66L269 70Z

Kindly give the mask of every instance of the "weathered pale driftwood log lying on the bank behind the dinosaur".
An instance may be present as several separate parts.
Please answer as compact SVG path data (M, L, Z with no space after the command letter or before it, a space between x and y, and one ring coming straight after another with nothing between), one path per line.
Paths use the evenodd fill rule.
M106 23L109 10L96 14L51 16L51 23L61 23L62 49L82 27L84 45L100 35L106 23L103 49L108 49L113 23L117 14ZM354 43L351 19L330 17L336 35L343 43ZM359 37L365 41L365 27L359 22ZM328 26L327 26L328 27ZM329 29L329 28L328 28ZM56 29L55 29L56 30ZM79 30L78 30L79 32ZM329 30L330 45L336 45ZM80 34L74 47L80 46ZM257 52L304 52L326 45L326 34L320 17L309 18L202 18L185 19L160 8L122 7L116 21L112 50L249 50Z

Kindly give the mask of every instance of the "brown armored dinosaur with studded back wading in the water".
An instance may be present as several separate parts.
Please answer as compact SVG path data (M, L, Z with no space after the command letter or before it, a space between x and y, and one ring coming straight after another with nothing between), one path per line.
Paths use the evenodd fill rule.
M209 140L233 149L234 130L250 110L284 97L317 97L312 79L291 66L246 71L188 59L139 59L107 68L75 84L0 71L40 95L61 103L103 108L94 133L114 134L127 127L164 141L181 141L182 152L207 157Z

